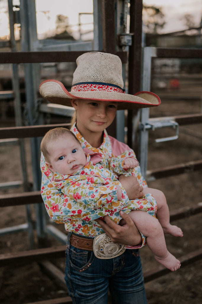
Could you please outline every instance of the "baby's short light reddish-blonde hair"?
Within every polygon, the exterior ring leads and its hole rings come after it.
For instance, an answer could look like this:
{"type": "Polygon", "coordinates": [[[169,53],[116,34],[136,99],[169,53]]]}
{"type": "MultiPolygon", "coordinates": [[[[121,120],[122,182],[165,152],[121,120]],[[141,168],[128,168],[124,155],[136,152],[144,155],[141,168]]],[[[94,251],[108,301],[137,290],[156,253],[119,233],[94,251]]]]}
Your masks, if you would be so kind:
{"type": "MultiPolygon", "coordinates": [[[[51,129],[49,130],[44,137],[41,140],[41,152],[44,155],[45,161],[49,161],[49,152],[48,152],[48,143],[53,142],[54,140],[65,136],[65,135],[71,135],[73,136],[78,142],[78,138],[75,136],[74,133],[72,133],[70,130],[66,129],[66,128],[55,128],[55,129],[51,129]]],[[[80,143],[80,142],[79,142],[80,143]]]]}

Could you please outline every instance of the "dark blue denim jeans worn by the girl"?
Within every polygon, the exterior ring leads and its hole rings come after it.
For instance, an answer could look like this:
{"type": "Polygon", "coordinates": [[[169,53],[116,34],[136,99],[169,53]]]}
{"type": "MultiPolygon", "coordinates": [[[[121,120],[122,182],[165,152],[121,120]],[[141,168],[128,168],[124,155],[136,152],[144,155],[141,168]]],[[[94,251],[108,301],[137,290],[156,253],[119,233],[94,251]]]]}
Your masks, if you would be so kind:
{"type": "Polygon", "coordinates": [[[68,240],[66,257],[65,281],[73,304],[107,304],[108,289],[114,304],[147,304],[137,249],[102,260],[68,240]]]}

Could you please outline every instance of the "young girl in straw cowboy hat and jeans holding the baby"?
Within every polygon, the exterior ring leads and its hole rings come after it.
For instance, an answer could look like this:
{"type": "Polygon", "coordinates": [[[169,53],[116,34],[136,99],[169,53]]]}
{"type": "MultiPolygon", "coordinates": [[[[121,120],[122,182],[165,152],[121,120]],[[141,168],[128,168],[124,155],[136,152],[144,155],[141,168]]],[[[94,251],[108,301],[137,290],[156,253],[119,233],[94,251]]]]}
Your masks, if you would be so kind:
{"type": "MultiPolygon", "coordinates": [[[[82,148],[101,150],[108,159],[112,154],[118,156],[122,153],[136,158],[133,150],[108,136],[105,130],[114,120],[117,109],[160,104],[160,99],[153,93],[124,94],[120,58],[101,52],[89,52],[78,57],[71,92],[59,81],[48,80],[41,84],[40,93],[50,102],[72,105],[76,110],[76,122],[71,131],[82,148]]],[[[77,202],[67,200],[62,192],[54,189],[45,168],[45,159],[41,155],[41,191],[46,194],[43,196],[46,209],[56,223],[65,223],[65,229],[70,232],[65,280],[73,303],[107,304],[108,288],[114,303],[147,303],[138,249],[126,249],[123,254],[110,259],[98,259],[93,252],[94,237],[103,233],[103,229],[113,242],[129,246],[139,244],[136,247],[141,248],[142,237],[132,219],[120,212],[126,222],[123,226],[108,216],[105,222],[91,220],[81,204],[78,209],[77,202]]],[[[147,187],[139,166],[134,168],[131,176],[121,175],[119,182],[124,187],[123,195],[129,199],[143,196],[143,187],[147,187]]],[[[153,200],[154,197],[146,194],[144,199],[153,200]]],[[[107,242],[102,246],[103,250],[108,250],[107,242]]]]}

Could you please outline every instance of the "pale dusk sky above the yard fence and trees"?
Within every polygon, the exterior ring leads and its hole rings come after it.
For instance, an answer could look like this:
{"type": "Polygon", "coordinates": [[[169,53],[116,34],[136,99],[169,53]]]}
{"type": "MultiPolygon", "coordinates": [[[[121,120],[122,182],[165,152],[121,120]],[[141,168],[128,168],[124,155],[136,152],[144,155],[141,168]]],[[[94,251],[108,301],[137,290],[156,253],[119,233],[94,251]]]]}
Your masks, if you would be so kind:
{"type": "MultiPolygon", "coordinates": [[[[16,5],[19,0],[13,0],[16,5]]],[[[68,16],[69,24],[71,24],[72,35],[75,39],[79,38],[78,34],[78,14],[79,13],[92,13],[93,0],[36,0],[37,11],[37,30],[38,38],[43,39],[55,31],[56,16],[59,14],[68,16]]],[[[165,26],[161,33],[170,33],[186,29],[186,25],[182,20],[185,14],[194,16],[196,26],[200,26],[202,16],[202,0],[143,0],[145,5],[154,5],[161,7],[164,13],[165,26]]],[[[8,13],[4,6],[7,5],[6,0],[0,1],[0,36],[7,36],[8,29],[8,13]]],[[[92,15],[82,15],[82,23],[90,23],[84,25],[83,30],[93,29],[92,15]]]]}

